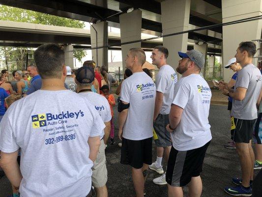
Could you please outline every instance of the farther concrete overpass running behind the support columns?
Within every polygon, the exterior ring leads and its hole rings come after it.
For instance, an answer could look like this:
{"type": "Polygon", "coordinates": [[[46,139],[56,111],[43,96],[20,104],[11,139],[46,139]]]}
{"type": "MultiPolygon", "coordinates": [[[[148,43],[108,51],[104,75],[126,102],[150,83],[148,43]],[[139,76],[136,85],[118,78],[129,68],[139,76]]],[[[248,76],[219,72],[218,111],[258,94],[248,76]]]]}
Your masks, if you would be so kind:
{"type": "MultiPolygon", "coordinates": [[[[212,31],[208,33],[211,34],[212,31]]],[[[87,29],[0,20],[0,34],[0,46],[37,47],[43,43],[55,42],[59,44],[72,44],[74,48],[91,48],[90,30],[87,29]]],[[[200,31],[199,34],[204,36],[203,31],[200,31]]],[[[141,38],[146,39],[153,36],[143,33],[141,38]]],[[[109,32],[108,44],[111,45],[109,49],[121,50],[120,46],[114,46],[120,44],[120,33],[109,32]]],[[[162,44],[162,38],[143,41],[141,43],[144,50],[152,50],[155,46],[162,44]]],[[[195,40],[188,39],[189,49],[192,49],[194,44],[195,40]]],[[[212,42],[209,45],[209,55],[221,55],[221,47],[219,45],[215,46],[212,42]]]]}

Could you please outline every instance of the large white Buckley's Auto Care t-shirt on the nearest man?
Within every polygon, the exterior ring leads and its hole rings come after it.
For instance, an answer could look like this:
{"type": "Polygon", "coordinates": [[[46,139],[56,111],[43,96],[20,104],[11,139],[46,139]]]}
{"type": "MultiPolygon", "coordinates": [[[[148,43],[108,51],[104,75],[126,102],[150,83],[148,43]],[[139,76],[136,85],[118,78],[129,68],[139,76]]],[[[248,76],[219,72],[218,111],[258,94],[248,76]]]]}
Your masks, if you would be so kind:
{"type": "Polygon", "coordinates": [[[38,90],[14,102],[0,123],[0,150],[21,147],[21,197],[85,197],[89,137],[105,128],[93,105],[69,91],[38,90]]]}

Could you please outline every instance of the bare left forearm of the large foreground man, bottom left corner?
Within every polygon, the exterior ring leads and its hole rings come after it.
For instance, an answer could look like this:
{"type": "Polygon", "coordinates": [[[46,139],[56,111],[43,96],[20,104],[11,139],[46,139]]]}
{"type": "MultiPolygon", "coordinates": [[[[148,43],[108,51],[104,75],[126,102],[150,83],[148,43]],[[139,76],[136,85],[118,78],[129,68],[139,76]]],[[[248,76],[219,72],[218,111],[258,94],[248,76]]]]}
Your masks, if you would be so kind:
{"type": "Polygon", "coordinates": [[[3,153],[1,152],[0,166],[6,174],[7,178],[11,184],[19,189],[22,174],[17,163],[18,150],[13,153],[3,153]]]}

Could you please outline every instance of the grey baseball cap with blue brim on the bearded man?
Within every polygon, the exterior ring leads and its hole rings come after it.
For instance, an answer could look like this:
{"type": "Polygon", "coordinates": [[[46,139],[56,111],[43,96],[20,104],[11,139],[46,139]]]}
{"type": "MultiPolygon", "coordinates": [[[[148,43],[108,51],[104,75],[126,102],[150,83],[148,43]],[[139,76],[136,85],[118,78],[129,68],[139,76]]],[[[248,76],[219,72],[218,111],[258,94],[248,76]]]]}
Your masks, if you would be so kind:
{"type": "Polygon", "coordinates": [[[178,52],[180,58],[189,58],[199,68],[204,67],[204,55],[197,50],[190,50],[186,53],[178,52]]]}

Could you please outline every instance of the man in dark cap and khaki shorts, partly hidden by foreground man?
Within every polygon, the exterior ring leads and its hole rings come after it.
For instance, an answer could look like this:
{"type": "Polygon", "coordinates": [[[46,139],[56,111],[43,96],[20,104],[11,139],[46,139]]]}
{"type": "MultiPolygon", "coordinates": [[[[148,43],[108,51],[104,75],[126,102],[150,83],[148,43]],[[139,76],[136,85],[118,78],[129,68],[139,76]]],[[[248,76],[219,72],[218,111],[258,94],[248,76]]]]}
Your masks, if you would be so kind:
{"type": "Polygon", "coordinates": [[[110,121],[112,116],[108,100],[102,95],[94,93],[91,90],[94,78],[94,69],[91,67],[83,66],[76,71],[75,81],[78,87],[78,93],[94,105],[94,108],[97,110],[106,125],[106,128],[104,129],[105,132],[101,133],[100,135],[101,144],[96,160],[94,161],[94,165],[92,167],[92,185],[95,188],[97,197],[107,197],[107,166],[105,144],[107,143],[110,134],[110,121]]]}

